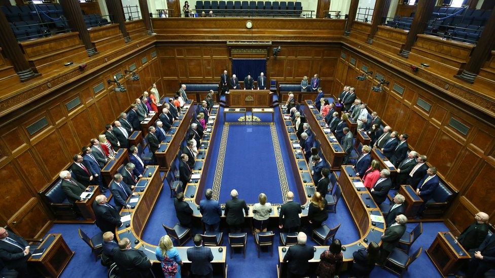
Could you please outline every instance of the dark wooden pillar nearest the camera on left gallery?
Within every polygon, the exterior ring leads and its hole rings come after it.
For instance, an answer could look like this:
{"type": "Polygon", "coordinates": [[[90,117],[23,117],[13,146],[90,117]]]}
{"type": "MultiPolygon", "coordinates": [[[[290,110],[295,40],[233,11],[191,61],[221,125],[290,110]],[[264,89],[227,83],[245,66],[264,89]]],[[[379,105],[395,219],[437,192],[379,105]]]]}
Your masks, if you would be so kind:
{"type": "Polygon", "coordinates": [[[21,47],[17,43],[17,38],[2,11],[0,11],[0,45],[2,46],[2,51],[5,53],[6,58],[9,59],[14,66],[14,71],[19,75],[21,82],[40,75],[39,73],[34,73],[29,66],[29,62],[22,53],[21,47]]]}

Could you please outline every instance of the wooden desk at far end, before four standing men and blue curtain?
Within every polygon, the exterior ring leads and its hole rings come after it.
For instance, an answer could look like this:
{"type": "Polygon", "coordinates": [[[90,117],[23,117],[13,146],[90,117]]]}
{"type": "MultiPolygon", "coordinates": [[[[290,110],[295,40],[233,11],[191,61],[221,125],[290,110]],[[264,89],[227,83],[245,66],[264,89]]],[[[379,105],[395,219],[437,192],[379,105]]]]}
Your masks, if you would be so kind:
{"type": "Polygon", "coordinates": [[[229,107],[269,107],[270,90],[230,90],[225,94],[229,107]]]}

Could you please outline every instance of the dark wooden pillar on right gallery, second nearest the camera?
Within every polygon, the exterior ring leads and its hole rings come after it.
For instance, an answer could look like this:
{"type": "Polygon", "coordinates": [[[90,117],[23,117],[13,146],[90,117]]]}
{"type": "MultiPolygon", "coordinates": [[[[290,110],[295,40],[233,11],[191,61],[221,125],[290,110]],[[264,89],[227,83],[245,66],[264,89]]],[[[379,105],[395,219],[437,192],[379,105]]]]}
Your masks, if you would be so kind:
{"type": "Polygon", "coordinates": [[[419,0],[417,3],[416,14],[414,15],[414,19],[412,20],[411,29],[407,33],[406,43],[404,47],[401,49],[399,55],[407,58],[409,57],[409,53],[411,52],[412,46],[416,41],[417,34],[421,34],[425,31],[425,28],[428,24],[428,20],[430,20],[433,8],[435,8],[435,1],[431,0],[419,0]]]}

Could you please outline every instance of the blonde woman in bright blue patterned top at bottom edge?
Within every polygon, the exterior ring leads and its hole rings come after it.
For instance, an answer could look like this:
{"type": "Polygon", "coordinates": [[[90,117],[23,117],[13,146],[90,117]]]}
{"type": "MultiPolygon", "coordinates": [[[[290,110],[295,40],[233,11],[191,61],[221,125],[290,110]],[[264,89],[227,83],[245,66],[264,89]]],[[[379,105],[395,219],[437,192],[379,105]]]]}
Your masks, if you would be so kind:
{"type": "Polygon", "coordinates": [[[155,256],[162,264],[165,278],[181,278],[182,260],[177,249],[173,247],[170,236],[161,237],[155,250],[155,256]]]}

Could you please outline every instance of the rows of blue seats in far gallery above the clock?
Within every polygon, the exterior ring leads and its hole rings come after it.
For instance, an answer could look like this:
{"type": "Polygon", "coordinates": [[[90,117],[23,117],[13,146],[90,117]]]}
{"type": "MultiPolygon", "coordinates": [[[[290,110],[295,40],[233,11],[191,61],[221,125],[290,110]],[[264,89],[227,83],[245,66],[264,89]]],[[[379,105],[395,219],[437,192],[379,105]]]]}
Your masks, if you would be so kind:
{"type": "Polygon", "coordinates": [[[300,15],[301,2],[270,1],[196,1],[196,12],[208,13],[213,10],[217,14],[288,14],[300,15]],[[217,11],[215,11],[217,10],[217,11]]]}

